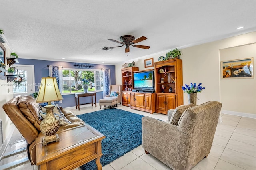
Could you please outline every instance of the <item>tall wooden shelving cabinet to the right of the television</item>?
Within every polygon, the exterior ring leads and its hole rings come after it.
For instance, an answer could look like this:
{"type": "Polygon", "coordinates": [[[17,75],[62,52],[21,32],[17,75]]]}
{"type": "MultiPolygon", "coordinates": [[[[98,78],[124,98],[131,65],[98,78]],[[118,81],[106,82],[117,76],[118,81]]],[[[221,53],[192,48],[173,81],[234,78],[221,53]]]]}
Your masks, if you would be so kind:
{"type": "Polygon", "coordinates": [[[154,63],[155,67],[155,91],[156,91],[156,113],[167,114],[169,109],[175,109],[183,105],[183,75],[182,60],[169,59],[154,63]],[[162,72],[165,70],[166,72],[162,72]],[[170,75],[168,80],[168,73],[170,75]],[[162,79],[162,80],[161,80],[162,79]],[[164,89],[162,89],[164,86],[164,89]],[[169,92],[169,88],[172,92],[169,92]]]}

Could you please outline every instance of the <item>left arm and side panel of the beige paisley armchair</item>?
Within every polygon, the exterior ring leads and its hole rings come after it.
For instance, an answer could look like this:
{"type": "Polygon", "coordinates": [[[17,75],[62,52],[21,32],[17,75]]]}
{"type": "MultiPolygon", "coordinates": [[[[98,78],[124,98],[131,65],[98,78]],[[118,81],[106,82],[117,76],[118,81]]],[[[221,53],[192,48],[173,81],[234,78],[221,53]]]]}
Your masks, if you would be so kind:
{"type": "Polygon", "coordinates": [[[176,125],[142,117],[142,148],[173,169],[184,169],[177,162],[186,162],[190,139],[191,136],[178,130],[176,125]]]}

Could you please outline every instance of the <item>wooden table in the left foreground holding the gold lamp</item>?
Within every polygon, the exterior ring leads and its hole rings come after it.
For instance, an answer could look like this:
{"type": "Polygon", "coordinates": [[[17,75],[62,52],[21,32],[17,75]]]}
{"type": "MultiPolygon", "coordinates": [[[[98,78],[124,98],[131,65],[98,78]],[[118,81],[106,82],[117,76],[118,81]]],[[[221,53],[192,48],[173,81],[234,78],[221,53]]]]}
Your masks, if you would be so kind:
{"type": "Polygon", "coordinates": [[[98,170],[100,164],[101,141],[105,138],[90,125],[81,125],[58,133],[59,142],[43,146],[42,138],[36,138],[36,165],[40,170],[74,169],[96,159],[98,170]]]}

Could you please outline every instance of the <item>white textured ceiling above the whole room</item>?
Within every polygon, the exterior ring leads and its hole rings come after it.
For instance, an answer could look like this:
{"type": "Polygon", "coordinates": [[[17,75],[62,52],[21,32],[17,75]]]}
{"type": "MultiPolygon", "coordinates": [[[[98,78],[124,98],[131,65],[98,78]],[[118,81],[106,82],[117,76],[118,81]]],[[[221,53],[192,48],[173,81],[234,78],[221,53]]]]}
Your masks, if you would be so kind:
{"type": "Polygon", "coordinates": [[[256,1],[0,0],[0,29],[20,58],[116,64],[255,31],[256,1]],[[150,49],[101,50],[123,35],[150,49]]]}

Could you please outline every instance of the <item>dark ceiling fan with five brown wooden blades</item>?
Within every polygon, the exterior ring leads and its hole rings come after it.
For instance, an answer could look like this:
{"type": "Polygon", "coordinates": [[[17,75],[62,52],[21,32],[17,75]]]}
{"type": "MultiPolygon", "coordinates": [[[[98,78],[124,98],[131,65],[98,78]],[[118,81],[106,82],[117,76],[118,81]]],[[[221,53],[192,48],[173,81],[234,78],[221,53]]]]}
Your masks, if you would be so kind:
{"type": "MultiPolygon", "coordinates": [[[[121,37],[120,37],[120,41],[121,41],[121,42],[116,41],[116,40],[113,40],[113,39],[108,39],[108,40],[110,40],[110,41],[112,41],[112,42],[117,42],[117,43],[122,44],[121,46],[116,46],[116,47],[122,47],[122,46],[125,45],[125,46],[126,46],[126,47],[125,47],[125,52],[128,53],[128,52],[130,51],[130,48],[129,48],[130,45],[132,45],[132,47],[136,47],[136,48],[149,49],[150,46],[134,45],[135,43],[141,42],[141,41],[146,40],[146,39],[147,39],[146,37],[142,36],[142,37],[137,38],[137,39],[135,40],[135,37],[134,37],[134,36],[125,35],[125,36],[121,36],[121,37]]],[[[113,48],[116,48],[116,47],[104,47],[104,48],[102,48],[102,49],[104,49],[104,50],[110,50],[110,49],[113,49],[113,48]]]]}

